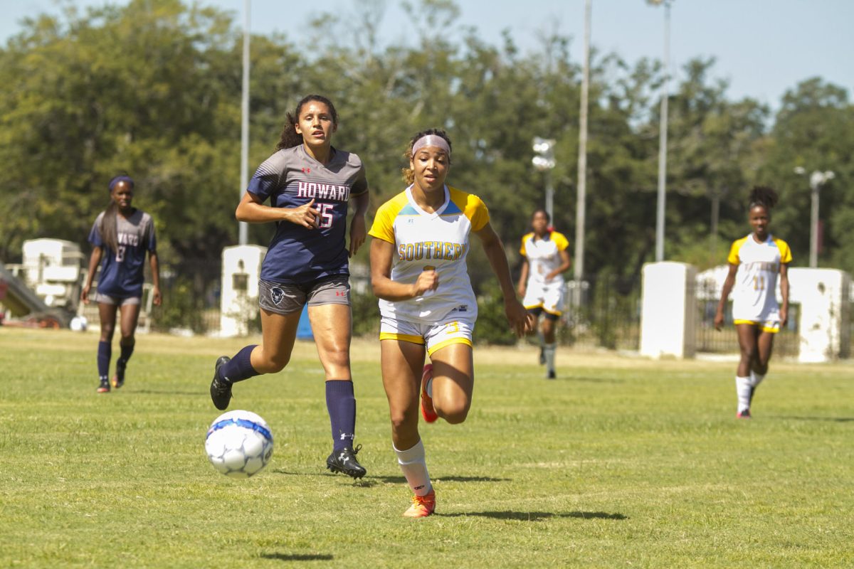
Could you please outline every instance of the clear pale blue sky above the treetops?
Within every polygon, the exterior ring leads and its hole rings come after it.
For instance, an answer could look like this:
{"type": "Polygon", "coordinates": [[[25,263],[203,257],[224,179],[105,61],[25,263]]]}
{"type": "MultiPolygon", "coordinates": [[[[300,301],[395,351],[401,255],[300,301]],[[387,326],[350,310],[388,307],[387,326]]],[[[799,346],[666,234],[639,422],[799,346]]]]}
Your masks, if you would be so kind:
{"type": "MultiPolygon", "coordinates": [[[[66,0],[67,1],[67,0],[66,0]]],[[[417,3],[418,0],[412,0],[417,3]]],[[[107,0],[73,0],[79,7],[107,0]]],[[[126,3],[118,0],[112,3],[126,3]]],[[[243,22],[243,0],[202,0],[231,10],[243,22]]],[[[254,33],[282,32],[298,45],[307,41],[307,21],[322,11],[352,15],[358,0],[253,0],[254,33]]],[[[508,29],[523,49],[536,49],[538,38],[559,32],[573,38],[572,56],[582,58],[583,0],[457,0],[459,23],[474,26],[489,44],[500,44],[508,29]]],[[[380,30],[389,43],[407,41],[410,22],[400,0],[385,0],[380,30]]],[[[0,41],[20,30],[20,19],[56,14],[56,0],[0,0],[0,41]]],[[[670,23],[670,59],[681,64],[698,56],[717,58],[714,73],[730,82],[728,96],[751,96],[771,107],[798,81],[819,76],[848,90],[854,98],[854,0],[674,0],[670,23]],[[848,61],[848,63],[845,63],[848,61]]],[[[664,52],[664,13],[645,0],[593,0],[591,42],[628,61],[664,52]]]]}

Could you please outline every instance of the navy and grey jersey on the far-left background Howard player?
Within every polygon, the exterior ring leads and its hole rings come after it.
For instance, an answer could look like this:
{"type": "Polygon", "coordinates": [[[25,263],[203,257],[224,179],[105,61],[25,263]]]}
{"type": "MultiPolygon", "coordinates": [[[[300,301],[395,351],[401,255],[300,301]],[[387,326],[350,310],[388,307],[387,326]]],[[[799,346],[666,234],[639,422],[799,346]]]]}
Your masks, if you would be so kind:
{"type": "Polygon", "coordinates": [[[89,242],[103,250],[98,293],[118,299],[142,296],[145,253],[157,251],[154,220],[148,213],[138,209],[129,218],[123,218],[116,213],[115,228],[119,250],[113,251],[101,235],[104,213],[98,214],[89,233],[89,242]]]}

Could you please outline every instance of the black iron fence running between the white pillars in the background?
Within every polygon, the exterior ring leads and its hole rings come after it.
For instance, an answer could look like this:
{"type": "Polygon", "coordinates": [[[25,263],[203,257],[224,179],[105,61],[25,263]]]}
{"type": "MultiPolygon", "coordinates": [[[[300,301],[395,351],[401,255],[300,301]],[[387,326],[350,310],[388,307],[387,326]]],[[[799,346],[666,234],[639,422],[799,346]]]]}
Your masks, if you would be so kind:
{"type": "MultiPolygon", "coordinates": [[[[354,334],[376,337],[379,328],[377,299],[371,294],[366,270],[354,268],[352,280],[354,334]]],[[[165,265],[161,269],[164,303],[153,307],[150,329],[161,332],[185,331],[215,334],[219,330],[221,264],[190,261],[165,265]]],[[[147,279],[149,282],[149,279],[147,279]]],[[[710,283],[699,283],[694,297],[697,303],[695,345],[699,352],[737,353],[738,338],[732,323],[732,303],[725,311],[721,331],[714,327],[719,290],[710,283]]],[[[512,344],[516,340],[506,329],[503,305],[497,285],[481,291],[476,342],[512,344]]],[[[567,282],[566,310],[559,320],[561,345],[582,348],[636,351],[640,348],[640,278],[594,276],[583,282],[567,282]]],[[[775,355],[798,355],[799,305],[790,305],[787,326],[775,337],[775,355]]],[[[854,323],[846,341],[854,341],[854,323]]],[[[250,329],[257,330],[258,322],[250,329]]]]}

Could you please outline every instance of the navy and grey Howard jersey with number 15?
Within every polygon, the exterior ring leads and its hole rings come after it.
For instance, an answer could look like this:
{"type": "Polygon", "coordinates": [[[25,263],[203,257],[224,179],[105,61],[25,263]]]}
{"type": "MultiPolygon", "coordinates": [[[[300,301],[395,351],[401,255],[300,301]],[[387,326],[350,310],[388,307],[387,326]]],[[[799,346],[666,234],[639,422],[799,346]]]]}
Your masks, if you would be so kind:
{"type": "Polygon", "coordinates": [[[272,207],[294,208],[314,200],[318,227],[290,221],[276,224],[260,277],[282,284],[306,284],[326,276],[349,275],[347,206],[351,195],[367,191],[365,166],[356,154],[336,150],[320,164],[302,146],[284,148],[258,166],[249,193],[272,207]]]}

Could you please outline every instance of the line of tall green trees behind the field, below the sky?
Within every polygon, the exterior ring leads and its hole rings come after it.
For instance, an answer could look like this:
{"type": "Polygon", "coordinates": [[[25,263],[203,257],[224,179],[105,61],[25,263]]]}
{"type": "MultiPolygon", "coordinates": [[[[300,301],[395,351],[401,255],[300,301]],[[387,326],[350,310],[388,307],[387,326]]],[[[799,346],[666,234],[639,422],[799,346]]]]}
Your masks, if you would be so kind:
{"type": "MultiPolygon", "coordinates": [[[[372,216],[404,188],[410,136],[445,128],[450,183],[483,197],[513,261],[544,200],[531,142],[554,138],[553,224],[572,241],[582,75],[572,38],[547,34],[523,54],[509,32],[492,45],[459,26],[451,0],[407,9],[418,38],[411,46],[380,43],[377,2],[352,18],[319,17],[310,48],[278,34],[252,37],[250,169],[272,154],[295,102],[323,94],[341,117],[335,146],[366,163],[372,216]]],[[[167,264],[218,260],[236,244],[242,42],[235,15],[179,0],[26,20],[0,49],[0,259],[17,260],[21,242],[35,237],[85,246],[120,172],[136,180],[136,204],[154,216],[167,264]]],[[[663,78],[658,61],[593,51],[588,275],[633,278],[653,259],[663,78]]],[[[696,58],[671,88],[665,258],[725,262],[729,242],[749,231],[746,195],[763,184],[781,196],[772,231],[791,244],[795,265],[807,264],[810,189],[793,173],[804,166],[836,174],[821,190],[820,266],[854,271],[846,90],[805,78],[772,113],[751,98],[732,100],[727,87],[713,58],[696,58]]],[[[250,242],[266,245],[272,230],[251,226],[250,242]]],[[[357,261],[366,262],[366,249],[357,261]]],[[[486,261],[472,252],[477,286],[488,271],[477,270],[486,261]]]]}

